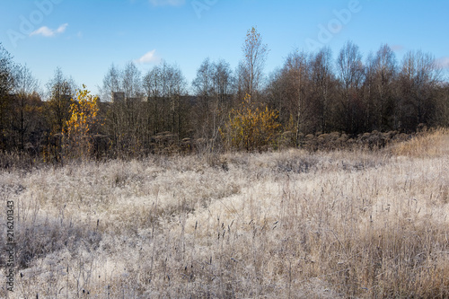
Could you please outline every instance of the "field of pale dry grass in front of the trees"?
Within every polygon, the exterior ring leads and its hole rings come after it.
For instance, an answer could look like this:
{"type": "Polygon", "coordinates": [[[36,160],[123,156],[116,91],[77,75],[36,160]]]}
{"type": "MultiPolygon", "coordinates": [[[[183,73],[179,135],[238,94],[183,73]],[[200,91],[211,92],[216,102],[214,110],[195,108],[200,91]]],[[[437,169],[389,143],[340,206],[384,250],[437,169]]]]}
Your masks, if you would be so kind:
{"type": "Polygon", "coordinates": [[[375,151],[10,168],[0,188],[16,217],[0,297],[449,297],[445,130],[375,151]]]}

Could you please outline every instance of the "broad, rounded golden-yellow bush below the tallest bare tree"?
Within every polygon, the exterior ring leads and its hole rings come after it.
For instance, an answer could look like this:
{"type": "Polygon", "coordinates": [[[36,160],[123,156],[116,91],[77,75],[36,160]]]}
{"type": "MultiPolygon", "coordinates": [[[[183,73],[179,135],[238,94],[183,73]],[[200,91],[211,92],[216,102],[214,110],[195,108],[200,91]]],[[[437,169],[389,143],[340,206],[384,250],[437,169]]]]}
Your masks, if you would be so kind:
{"type": "Polygon", "coordinates": [[[247,94],[238,110],[231,110],[225,128],[220,134],[225,144],[235,149],[247,151],[261,150],[276,143],[280,124],[277,122],[276,110],[260,108],[251,103],[247,94]]]}

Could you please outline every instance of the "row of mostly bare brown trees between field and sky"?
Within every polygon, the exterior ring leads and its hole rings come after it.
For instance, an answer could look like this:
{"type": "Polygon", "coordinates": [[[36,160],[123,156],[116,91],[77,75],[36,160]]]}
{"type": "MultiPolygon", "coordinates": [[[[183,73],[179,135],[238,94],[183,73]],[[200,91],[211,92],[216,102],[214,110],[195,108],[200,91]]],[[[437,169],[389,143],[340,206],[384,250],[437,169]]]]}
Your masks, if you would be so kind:
{"type": "Polygon", "coordinates": [[[0,44],[0,151],[58,163],[70,152],[70,138],[89,145],[84,158],[138,157],[276,148],[286,136],[289,145],[301,146],[308,134],[449,125],[449,84],[432,54],[409,51],[398,62],[382,45],[364,58],[348,41],[336,57],[329,47],[295,50],[266,76],[268,54],[251,28],[235,69],[206,58],[191,83],[165,61],[145,74],[133,62],[111,65],[97,101],[59,68],[40,92],[31,70],[0,44]],[[80,114],[82,104],[89,112],[80,114]],[[86,113],[92,123],[81,124],[86,113]]]}

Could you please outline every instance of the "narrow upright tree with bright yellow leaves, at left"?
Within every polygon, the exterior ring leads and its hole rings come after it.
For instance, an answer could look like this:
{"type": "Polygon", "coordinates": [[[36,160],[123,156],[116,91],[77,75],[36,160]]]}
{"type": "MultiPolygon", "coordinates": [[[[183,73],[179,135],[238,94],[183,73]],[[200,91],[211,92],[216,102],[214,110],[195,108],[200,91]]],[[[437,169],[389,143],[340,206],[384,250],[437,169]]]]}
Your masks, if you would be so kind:
{"type": "Polygon", "coordinates": [[[76,92],[76,100],[70,104],[71,117],[66,121],[63,135],[66,140],[66,156],[88,159],[92,154],[92,128],[97,121],[98,97],[93,96],[83,84],[76,92]]]}

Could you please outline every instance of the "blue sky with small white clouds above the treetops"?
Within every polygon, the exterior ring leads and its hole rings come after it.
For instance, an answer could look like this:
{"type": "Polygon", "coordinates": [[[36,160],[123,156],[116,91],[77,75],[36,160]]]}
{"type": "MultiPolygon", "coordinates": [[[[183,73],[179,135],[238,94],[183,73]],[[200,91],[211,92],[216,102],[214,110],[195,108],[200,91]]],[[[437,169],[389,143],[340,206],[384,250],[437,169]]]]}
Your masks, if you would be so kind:
{"type": "Polygon", "coordinates": [[[267,75],[296,48],[335,58],[347,40],[364,57],[387,43],[398,62],[420,49],[449,69],[447,0],[0,0],[0,13],[0,42],[42,91],[57,66],[98,92],[112,63],[145,73],[161,59],[191,83],[206,57],[234,69],[252,26],[270,49],[267,75]]]}

